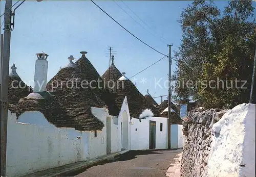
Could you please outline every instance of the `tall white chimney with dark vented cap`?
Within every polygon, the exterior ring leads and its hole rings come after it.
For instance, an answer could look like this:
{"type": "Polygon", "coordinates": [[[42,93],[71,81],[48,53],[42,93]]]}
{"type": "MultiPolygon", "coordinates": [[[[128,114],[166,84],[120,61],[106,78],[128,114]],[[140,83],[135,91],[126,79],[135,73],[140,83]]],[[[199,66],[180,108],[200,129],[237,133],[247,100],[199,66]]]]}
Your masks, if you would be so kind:
{"type": "Polygon", "coordinates": [[[35,61],[35,77],[34,77],[34,92],[46,91],[48,55],[44,53],[36,54],[35,61]]]}

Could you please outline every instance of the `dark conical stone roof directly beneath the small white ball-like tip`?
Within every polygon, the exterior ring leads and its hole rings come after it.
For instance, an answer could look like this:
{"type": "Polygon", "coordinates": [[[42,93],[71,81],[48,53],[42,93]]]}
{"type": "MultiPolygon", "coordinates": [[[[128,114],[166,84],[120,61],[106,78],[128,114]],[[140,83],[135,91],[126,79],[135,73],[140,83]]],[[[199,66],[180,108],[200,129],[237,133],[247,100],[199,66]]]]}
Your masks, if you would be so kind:
{"type": "MultiPolygon", "coordinates": [[[[127,104],[131,117],[139,118],[139,115],[145,110],[150,109],[154,116],[158,115],[153,105],[147,103],[145,97],[139,92],[136,86],[130,80],[118,81],[117,94],[127,97],[127,104]]],[[[119,102],[123,99],[119,98],[119,102]]],[[[121,103],[120,103],[121,104],[121,103]]]]}

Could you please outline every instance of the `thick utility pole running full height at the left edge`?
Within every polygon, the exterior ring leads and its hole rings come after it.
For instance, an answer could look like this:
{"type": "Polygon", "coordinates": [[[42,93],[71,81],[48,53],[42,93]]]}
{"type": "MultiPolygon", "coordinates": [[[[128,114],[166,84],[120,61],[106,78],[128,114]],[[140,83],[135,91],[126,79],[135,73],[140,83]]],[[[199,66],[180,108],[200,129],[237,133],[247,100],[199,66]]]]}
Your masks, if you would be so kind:
{"type": "Polygon", "coordinates": [[[10,61],[11,42],[11,8],[12,0],[5,2],[5,26],[2,61],[1,84],[1,176],[6,176],[6,144],[7,144],[7,119],[8,119],[8,74],[10,61]]]}

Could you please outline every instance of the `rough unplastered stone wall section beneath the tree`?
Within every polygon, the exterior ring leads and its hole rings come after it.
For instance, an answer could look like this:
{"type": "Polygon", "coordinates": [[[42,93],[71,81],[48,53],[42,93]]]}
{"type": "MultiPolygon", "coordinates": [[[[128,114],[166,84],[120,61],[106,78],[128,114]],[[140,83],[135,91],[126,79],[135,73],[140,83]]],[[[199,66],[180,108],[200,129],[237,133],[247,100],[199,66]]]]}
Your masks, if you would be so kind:
{"type": "Polygon", "coordinates": [[[183,122],[185,143],[181,160],[181,176],[202,176],[207,166],[210,151],[211,128],[228,110],[196,109],[190,111],[183,122]]]}

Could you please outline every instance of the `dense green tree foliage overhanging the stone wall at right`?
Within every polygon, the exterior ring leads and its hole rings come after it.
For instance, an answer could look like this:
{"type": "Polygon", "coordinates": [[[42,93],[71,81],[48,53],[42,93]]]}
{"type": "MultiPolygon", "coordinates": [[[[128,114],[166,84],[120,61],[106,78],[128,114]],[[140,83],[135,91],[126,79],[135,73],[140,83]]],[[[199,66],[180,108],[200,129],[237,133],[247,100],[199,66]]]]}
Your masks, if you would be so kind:
{"type": "Polygon", "coordinates": [[[176,82],[176,102],[194,99],[206,108],[249,102],[256,46],[253,13],[249,0],[230,1],[223,12],[214,2],[199,0],[182,12],[182,43],[172,79],[193,84],[181,87],[176,82]]]}

